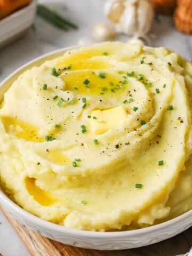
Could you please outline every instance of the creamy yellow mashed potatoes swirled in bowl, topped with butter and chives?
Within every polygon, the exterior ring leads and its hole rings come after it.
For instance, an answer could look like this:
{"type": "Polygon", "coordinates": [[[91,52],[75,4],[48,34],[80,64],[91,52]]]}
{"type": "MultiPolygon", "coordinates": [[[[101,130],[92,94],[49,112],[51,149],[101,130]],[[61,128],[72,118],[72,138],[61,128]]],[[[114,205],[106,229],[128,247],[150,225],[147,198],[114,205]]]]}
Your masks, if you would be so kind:
{"type": "Polygon", "coordinates": [[[191,74],[170,50],[118,42],[25,71],[0,110],[7,194],[85,230],[146,227],[188,211],[191,74]]]}

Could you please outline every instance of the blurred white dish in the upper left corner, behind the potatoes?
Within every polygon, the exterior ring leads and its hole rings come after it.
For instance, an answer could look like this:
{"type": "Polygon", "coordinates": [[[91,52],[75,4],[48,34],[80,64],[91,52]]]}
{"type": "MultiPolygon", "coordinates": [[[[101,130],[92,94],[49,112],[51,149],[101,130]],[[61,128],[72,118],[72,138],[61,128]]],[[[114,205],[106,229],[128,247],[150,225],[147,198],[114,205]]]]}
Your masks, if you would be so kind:
{"type": "Polygon", "coordinates": [[[0,20],[0,47],[24,34],[34,21],[37,0],[0,20]]]}

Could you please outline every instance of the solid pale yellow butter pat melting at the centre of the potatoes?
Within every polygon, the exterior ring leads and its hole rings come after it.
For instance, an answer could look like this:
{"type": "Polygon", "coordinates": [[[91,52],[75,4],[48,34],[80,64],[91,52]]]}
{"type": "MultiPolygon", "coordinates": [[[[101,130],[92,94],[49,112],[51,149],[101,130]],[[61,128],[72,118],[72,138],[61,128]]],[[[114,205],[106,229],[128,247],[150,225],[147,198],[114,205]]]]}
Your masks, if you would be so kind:
{"type": "Polygon", "coordinates": [[[124,105],[107,110],[93,110],[90,125],[95,135],[107,132],[126,122],[127,113],[124,105]],[[96,117],[97,119],[93,119],[96,117]]]}

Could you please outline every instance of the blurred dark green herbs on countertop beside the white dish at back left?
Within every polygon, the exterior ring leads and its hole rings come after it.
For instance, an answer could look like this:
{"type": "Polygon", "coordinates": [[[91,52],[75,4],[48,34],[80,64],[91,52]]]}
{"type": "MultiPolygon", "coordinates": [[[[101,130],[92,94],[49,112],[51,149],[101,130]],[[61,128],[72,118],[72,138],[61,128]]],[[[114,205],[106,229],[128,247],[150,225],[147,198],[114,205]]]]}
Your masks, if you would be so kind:
{"type": "Polygon", "coordinates": [[[69,28],[78,28],[74,23],[62,18],[57,12],[50,10],[42,4],[37,5],[37,14],[47,22],[51,23],[53,26],[65,31],[67,31],[69,28]]]}

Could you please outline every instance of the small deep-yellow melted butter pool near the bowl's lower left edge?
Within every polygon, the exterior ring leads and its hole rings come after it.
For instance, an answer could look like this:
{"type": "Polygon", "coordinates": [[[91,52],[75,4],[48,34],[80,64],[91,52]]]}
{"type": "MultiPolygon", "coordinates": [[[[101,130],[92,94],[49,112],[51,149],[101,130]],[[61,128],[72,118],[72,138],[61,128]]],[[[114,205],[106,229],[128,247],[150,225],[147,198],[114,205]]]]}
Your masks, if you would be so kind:
{"type": "Polygon", "coordinates": [[[35,178],[26,177],[25,183],[28,193],[34,197],[35,201],[43,206],[49,206],[54,203],[54,200],[51,197],[51,194],[45,189],[39,187],[36,184],[35,178]]]}

